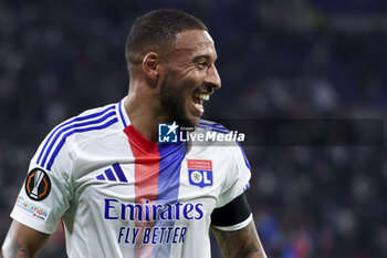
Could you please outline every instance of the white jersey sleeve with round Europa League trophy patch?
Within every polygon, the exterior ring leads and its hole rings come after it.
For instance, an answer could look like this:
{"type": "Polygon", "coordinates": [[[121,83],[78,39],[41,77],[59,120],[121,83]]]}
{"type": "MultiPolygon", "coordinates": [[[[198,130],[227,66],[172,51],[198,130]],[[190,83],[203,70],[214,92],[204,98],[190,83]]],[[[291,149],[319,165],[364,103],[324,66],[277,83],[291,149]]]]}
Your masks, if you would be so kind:
{"type": "Polygon", "coordinates": [[[54,137],[43,141],[30,162],[29,173],[20,189],[11,217],[38,231],[52,234],[70,206],[72,159],[64,143],[51,145],[54,137]],[[54,162],[53,162],[54,161],[54,162]]]}

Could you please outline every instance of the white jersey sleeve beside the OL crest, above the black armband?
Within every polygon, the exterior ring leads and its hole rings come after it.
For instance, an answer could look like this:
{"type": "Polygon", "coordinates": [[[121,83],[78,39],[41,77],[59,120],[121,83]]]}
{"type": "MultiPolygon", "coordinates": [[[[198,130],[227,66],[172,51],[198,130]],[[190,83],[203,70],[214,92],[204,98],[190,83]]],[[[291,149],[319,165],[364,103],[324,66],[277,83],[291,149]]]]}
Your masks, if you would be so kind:
{"type": "Polygon", "coordinates": [[[227,161],[227,178],[217,208],[227,205],[250,187],[251,167],[242,147],[236,142],[234,146],[229,146],[229,151],[231,157],[227,161]]]}

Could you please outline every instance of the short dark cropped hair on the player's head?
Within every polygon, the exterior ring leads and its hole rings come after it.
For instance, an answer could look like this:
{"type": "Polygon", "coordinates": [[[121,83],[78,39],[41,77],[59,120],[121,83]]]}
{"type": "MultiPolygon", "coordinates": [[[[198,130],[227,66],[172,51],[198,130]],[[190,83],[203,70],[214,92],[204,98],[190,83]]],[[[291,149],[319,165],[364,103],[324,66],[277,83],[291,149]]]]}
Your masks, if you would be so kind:
{"type": "Polygon", "coordinates": [[[187,30],[208,31],[202,21],[182,11],[159,9],[145,13],[136,19],[127,35],[126,61],[138,63],[139,54],[169,49],[176,34],[187,30]]]}

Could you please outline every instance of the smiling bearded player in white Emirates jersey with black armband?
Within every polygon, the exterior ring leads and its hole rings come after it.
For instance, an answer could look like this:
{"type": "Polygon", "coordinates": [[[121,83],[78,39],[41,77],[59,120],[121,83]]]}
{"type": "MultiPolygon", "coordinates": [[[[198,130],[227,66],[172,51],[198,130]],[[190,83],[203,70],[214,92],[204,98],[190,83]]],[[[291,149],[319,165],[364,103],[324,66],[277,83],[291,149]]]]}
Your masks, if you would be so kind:
{"type": "Polygon", "coordinates": [[[265,257],[244,197],[250,165],[237,142],[158,144],[158,124],[200,120],[220,89],[206,25],[180,11],[138,18],[126,42],[129,93],[56,126],[42,142],[0,257],[35,257],[61,219],[69,257],[265,257]]]}

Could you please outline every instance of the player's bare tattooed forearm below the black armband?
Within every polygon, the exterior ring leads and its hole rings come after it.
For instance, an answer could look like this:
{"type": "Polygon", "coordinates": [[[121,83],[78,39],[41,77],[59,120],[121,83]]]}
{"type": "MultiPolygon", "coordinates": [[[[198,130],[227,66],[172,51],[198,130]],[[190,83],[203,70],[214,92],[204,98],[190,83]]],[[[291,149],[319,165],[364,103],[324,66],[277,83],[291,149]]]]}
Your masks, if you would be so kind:
{"type": "Polygon", "coordinates": [[[253,220],[234,231],[211,229],[226,258],[266,258],[253,220]]]}

